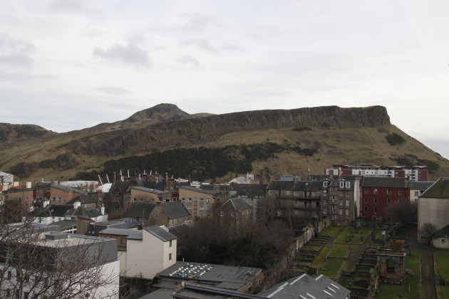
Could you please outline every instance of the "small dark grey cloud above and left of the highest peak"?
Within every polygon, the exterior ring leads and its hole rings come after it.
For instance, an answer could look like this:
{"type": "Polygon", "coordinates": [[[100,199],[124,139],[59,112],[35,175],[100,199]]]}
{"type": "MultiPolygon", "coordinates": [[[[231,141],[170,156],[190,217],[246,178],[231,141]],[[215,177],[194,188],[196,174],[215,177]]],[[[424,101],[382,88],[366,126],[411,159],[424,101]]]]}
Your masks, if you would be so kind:
{"type": "Polygon", "coordinates": [[[134,44],[123,46],[119,43],[115,43],[106,50],[96,48],[93,51],[93,56],[103,58],[108,61],[119,61],[125,64],[143,66],[145,68],[150,67],[150,57],[148,56],[148,51],[145,51],[134,44]]]}

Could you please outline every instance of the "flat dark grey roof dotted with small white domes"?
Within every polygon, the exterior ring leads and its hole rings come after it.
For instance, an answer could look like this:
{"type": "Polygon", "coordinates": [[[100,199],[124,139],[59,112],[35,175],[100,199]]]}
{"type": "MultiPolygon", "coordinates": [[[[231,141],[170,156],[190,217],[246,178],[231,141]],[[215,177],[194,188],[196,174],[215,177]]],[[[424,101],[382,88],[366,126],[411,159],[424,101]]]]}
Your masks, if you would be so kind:
{"type": "Polygon", "coordinates": [[[254,279],[254,273],[261,272],[261,268],[242,266],[222,266],[203,263],[187,263],[178,261],[174,265],[160,272],[160,277],[173,280],[200,280],[207,285],[225,283],[227,288],[238,290],[254,279]],[[197,273],[195,273],[195,271],[197,273]],[[193,278],[190,278],[192,277],[193,278]]]}

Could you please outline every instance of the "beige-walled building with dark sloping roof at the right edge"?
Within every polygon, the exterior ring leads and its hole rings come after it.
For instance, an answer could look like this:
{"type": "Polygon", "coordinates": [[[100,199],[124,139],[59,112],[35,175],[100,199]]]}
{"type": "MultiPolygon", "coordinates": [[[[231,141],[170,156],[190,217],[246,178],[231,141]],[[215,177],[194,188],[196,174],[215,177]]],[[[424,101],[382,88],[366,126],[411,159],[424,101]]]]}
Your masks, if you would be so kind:
{"type": "Polygon", "coordinates": [[[418,197],[418,242],[429,240],[420,231],[424,224],[433,224],[436,231],[449,225],[449,177],[441,177],[418,197]]]}

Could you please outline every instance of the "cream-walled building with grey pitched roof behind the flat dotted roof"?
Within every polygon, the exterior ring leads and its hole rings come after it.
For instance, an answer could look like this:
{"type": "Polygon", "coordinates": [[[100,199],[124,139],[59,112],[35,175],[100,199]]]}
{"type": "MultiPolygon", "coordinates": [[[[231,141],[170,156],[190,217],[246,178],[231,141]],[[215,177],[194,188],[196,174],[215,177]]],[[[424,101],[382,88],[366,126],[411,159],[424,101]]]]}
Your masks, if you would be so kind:
{"type": "Polygon", "coordinates": [[[99,236],[117,240],[121,276],[153,279],[176,263],[177,237],[165,226],[149,226],[141,231],[105,229],[99,236]]]}

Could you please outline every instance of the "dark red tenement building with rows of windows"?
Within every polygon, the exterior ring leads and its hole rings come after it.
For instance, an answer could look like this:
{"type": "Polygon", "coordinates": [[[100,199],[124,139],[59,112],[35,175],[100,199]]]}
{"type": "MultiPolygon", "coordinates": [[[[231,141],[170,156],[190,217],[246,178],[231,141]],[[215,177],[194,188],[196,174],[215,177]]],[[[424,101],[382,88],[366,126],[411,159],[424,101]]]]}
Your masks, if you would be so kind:
{"type": "Polygon", "coordinates": [[[400,177],[363,177],[361,216],[366,221],[397,222],[388,214],[388,208],[410,201],[408,179],[400,177]]]}

